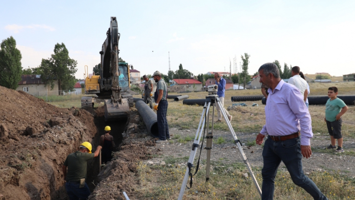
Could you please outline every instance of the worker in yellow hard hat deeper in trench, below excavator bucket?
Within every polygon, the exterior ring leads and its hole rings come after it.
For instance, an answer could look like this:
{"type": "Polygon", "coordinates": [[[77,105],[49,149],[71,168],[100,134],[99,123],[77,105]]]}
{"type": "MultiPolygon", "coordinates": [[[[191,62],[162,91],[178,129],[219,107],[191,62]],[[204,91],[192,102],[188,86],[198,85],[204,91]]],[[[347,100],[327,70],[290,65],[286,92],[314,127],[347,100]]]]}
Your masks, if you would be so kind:
{"type": "Polygon", "coordinates": [[[113,136],[110,135],[111,127],[105,127],[105,134],[100,137],[100,145],[102,146],[101,163],[106,163],[112,159],[112,150],[115,148],[113,136]]]}

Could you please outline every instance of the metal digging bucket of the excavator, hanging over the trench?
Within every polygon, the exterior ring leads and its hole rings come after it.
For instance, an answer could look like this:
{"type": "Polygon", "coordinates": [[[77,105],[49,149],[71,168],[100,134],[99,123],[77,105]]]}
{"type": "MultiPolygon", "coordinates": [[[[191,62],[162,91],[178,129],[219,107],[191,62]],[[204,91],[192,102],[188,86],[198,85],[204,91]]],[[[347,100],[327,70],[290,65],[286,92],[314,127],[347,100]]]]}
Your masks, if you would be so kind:
{"type": "Polygon", "coordinates": [[[118,119],[127,119],[129,113],[129,104],[127,99],[121,99],[121,102],[111,102],[111,99],[105,100],[105,121],[118,119]]]}

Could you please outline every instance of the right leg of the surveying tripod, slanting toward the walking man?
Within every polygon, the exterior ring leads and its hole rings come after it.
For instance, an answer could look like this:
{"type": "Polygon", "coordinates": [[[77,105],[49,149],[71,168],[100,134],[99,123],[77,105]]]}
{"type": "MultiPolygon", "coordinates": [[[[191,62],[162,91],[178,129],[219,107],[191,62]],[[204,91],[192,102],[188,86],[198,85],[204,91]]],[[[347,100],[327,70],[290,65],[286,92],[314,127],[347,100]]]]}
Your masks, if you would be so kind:
{"type": "Polygon", "coordinates": [[[255,187],[256,189],[258,190],[259,194],[260,194],[260,197],[261,197],[261,189],[260,189],[260,186],[258,184],[258,182],[256,181],[256,178],[255,178],[255,175],[253,173],[253,171],[251,170],[251,166],[248,162],[248,159],[247,159],[247,156],[245,155],[244,151],[243,151],[243,148],[242,148],[242,145],[240,144],[240,141],[238,140],[235,132],[234,132],[234,129],[233,127],[231,126],[231,122],[229,121],[228,117],[227,117],[227,114],[226,114],[226,111],[224,110],[223,107],[221,107],[221,103],[220,103],[220,100],[219,98],[217,97],[216,98],[216,104],[218,104],[219,108],[221,109],[221,113],[223,115],[223,118],[224,120],[226,120],[226,123],[227,123],[227,126],[232,134],[232,137],[233,137],[233,140],[235,142],[235,144],[237,145],[238,149],[239,149],[239,152],[240,154],[242,155],[242,158],[243,158],[243,162],[244,164],[247,165],[247,168],[248,168],[248,171],[249,171],[249,174],[251,176],[251,179],[253,180],[254,184],[255,184],[255,187]]]}

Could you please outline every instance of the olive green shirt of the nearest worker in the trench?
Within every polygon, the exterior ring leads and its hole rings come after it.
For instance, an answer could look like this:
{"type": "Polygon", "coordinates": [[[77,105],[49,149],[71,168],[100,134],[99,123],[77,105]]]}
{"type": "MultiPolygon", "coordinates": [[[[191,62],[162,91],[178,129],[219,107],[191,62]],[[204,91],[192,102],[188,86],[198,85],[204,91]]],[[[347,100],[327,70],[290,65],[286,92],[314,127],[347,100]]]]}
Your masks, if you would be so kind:
{"type": "Polygon", "coordinates": [[[80,181],[80,179],[86,179],[88,160],[93,159],[95,155],[93,153],[83,153],[81,151],[75,151],[67,156],[64,165],[67,169],[66,181],[80,181]]]}

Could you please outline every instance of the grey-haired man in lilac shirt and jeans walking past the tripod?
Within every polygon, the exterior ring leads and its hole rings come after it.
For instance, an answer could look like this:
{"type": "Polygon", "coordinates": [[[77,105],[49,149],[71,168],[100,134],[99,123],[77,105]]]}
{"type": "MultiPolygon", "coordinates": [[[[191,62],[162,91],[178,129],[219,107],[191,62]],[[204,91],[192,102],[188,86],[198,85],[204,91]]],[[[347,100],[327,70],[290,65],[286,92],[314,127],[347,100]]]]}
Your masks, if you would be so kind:
{"type": "Polygon", "coordinates": [[[313,137],[311,115],[303,102],[302,93],[280,78],[280,71],[273,63],[262,65],[259,74],[260,82],[269,88],[265,106],[266,125],[256,137],[256,143],[261,145],[268,135],[263,149],[261,199],[273,199],[276,172],[282,161],[296,185],[315,200],[328,200],[302,170],[302,155],[307,159],[311,156],[310,139],[313,137]]]}

